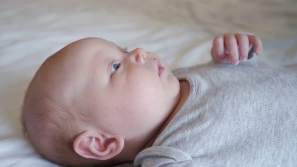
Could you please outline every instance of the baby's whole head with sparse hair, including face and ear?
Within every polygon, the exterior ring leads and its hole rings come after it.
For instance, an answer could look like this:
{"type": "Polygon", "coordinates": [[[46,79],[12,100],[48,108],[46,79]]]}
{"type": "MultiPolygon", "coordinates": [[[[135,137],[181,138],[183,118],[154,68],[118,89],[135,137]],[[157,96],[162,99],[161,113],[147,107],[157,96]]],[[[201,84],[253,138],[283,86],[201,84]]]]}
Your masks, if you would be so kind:
{"type": "Polygon", "coordinates": [[[86,38],[41,65],[26,92],[22,122],[35,149],[56,163],[132,161],[176,106],[179,89],[155,54],[86,38]]]}

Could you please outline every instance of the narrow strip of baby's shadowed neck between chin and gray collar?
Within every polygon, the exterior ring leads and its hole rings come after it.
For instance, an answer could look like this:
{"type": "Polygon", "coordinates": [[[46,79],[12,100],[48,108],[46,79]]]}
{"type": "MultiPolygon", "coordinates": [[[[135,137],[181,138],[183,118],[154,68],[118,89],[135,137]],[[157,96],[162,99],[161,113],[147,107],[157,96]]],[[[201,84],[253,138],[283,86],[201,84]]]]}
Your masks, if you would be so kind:
{"type": "Polygon", "coordinates": [[[167,120],[164,122],[158,133],[154,136],[154,139],[151,141],[151,144],[154,143],[155,139],[161,134],[161,132],[166,128],[166,126],[170,123],[170,121],[174,118],[174,116],[179,112],[181,107],[184,105],[190,93],[190,84],[187,80],[181,80],[180,83],[180,100],[177,103],[174,110],[171,112],[167,120]]]}

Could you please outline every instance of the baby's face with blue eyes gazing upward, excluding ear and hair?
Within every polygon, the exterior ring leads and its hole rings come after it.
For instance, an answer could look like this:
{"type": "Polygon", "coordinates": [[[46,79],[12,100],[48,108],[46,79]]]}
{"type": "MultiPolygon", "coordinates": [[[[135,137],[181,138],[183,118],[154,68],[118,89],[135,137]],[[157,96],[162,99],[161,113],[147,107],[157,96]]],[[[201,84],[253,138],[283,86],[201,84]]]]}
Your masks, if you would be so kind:
{"type": "Polygon", "coordinates": [[[75,77],[80,94],[76,103],[102,130],[124,138],[154,134],[179,100],[179,81],[153,53],[125,52],[99,38],[64,49],[73,68],[68,76],[75,77]]]}

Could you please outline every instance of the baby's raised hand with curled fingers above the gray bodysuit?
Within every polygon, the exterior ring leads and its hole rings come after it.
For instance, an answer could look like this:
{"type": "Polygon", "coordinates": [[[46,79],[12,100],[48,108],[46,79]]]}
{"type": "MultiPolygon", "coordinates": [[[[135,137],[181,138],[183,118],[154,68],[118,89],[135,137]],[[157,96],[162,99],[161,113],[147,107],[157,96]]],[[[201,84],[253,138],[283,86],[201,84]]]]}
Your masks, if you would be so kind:
{"type": "Polygon", "coordinates": [[[214,38],[211,55],[216,62],[231,62],[237,65],[246,61],[254,45],[256,54],[262,52],[262,41],[258,36],[247,34],[225,34],[214,38]]]}

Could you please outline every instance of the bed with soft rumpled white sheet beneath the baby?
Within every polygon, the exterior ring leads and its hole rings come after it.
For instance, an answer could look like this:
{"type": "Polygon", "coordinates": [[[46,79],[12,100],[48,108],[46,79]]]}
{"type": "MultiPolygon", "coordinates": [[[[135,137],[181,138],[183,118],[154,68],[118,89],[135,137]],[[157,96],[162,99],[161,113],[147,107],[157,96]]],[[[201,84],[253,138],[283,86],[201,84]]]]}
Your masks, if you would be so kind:
{"type": "Polygon", "coordinates": [[[142,47],[176,69],[208,62],[215,36],[249,32],[264,43],[259,66],[297,72],[295,0],[7,0],[0,22],[0,166],[58,166],[24,138],[20,108],[41,63],[84,37],[142,47]]]}

